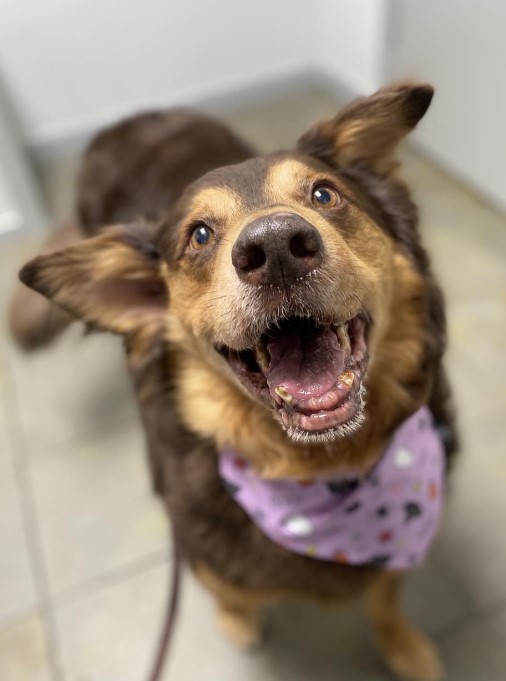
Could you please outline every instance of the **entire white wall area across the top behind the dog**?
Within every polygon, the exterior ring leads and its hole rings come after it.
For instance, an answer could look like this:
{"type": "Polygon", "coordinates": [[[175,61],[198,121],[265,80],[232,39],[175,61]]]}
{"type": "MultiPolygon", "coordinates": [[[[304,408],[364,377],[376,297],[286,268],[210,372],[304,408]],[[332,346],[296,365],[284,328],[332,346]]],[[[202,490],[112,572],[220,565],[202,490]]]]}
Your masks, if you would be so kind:
{"type": "Polygon", "coordinates": [[[311,71],[336,94],[418,77],[419,142],[504,206],[505,27],[504,0],[0,0],[0,69],[35,146],[311,71]]]}

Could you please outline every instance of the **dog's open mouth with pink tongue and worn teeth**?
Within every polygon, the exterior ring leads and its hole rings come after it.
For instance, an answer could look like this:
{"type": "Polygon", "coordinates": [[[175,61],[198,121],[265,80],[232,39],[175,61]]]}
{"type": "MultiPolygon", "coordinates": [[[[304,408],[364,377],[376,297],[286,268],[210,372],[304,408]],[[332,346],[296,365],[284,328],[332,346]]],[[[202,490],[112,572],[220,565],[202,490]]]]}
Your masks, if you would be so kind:
{"type": "Polygon", "coordinates": [[[291,317],[254,348],[219,352],[253,397],[271,405],[296,440],[329,440],[363,419],[368,324],[364,315],[339,324],[291,317]]]}

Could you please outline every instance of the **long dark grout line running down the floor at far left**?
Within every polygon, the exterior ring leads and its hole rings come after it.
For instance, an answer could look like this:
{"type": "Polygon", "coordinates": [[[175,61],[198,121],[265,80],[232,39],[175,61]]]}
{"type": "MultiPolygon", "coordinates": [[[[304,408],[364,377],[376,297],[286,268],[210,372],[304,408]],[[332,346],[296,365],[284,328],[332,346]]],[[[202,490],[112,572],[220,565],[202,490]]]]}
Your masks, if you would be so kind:
{"type": "Polygon", "coordinates": [[[53,681],[65,681],[61,648],[51,610],[49,579],[44,562],[42,538],[37,522],[29,460],[19,418],[18,396],[10,367],[7,367],[6,373],[11,393],[11,399],[7,406],[8,438],[13,450],[12,466],[23,519],[31,573],[36,591],[36,605],[44,628],[44,647],[47,655],[47,664],[53,681]]]}

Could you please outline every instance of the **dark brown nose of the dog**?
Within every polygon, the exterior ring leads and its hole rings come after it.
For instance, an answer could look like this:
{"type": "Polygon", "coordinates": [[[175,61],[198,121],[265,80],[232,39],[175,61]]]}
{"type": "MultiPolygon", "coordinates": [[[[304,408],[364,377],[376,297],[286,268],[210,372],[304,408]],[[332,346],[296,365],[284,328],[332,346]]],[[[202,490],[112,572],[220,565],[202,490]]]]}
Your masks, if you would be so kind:
{"type": "Polygon", "coordinates": [[[256,286],[285,286],[321,265],[318,230],[295,213],[256,218],[239,234],[232,263],[240,279],[256,286]]]}

